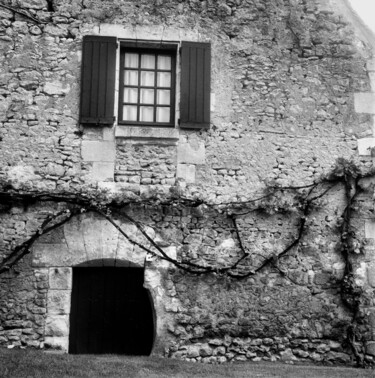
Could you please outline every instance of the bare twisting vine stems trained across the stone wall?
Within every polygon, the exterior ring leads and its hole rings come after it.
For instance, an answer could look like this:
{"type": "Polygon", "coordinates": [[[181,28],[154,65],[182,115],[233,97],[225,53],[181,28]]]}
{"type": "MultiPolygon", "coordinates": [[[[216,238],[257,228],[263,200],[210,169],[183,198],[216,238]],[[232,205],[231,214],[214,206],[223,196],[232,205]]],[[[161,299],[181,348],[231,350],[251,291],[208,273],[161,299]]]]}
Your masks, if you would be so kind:
{"type": "MultiPolygon", "coordinates": [[[[19,262],[25,255],[30,253],[30,248],[34,244],[34,242],[40,237],[57,227],[62,226],[64,223],[68,222],[74,216],[77,216],[81,212],[84,211],[92,211],[96,212],[100,216],[104,217],[108,222],[110,222],[120,233],[123,235],[130,243],[135,246],[138,246],[143,251],[151,254],[152,256],[161,258],[163,260],[168,261],[169,263],[173,264],[175,267],[182,269],[190,274],[194,275],[202,275],[208,273],[217,273],[217,274],[226,274],[228,277],[233,279],[246,279],[247,277],[253,276],[260,272],[267,266],[273,267],[276,269],[283,277],[288,279],[290,282],[296,285],[300,285],[298,282],[295,282],[288,274],[279,266],[280,259],[285,256],[289,251],[298,247],[301,239],[304,236],[306,230],[307,220],[309,215],[316,206],[316,201],[320,200],[324,196],[326,196],[331,190],[338,187],[339,185],[343,185],[345,191],[345,199],[346,199],[346,206],[342,213],[343,223],[340,229],[340,241],[341,241],[341,253],[345,261],[345,272],[344,278],[341,282],[341,296],[343,298],[343,302],[345,303],[348,308],[350,308],[353,312],[352,323],[347,329],[347,342],[352,349],[352,352],[356,358],[357,364],[359,366],[364,366],[364,352],[361,351],[357,347],[357,338],[356,338],[356,327],[359,318],[359,310],[360,310],[360,303],[361,303],[361,296],[362,291],[358,289],[354,281],[354,273],[353,273],[353,264],[351,261],[351,256],[354,253],[353,250],[353,239],[355,237],[354,231],[352,230],[351,224],[351,217],[352,217],[352,207],[353,203],[356,200],[358,194],[361,192],[362,188],[360,185],[360,181],[362,179],[373,177],[375,174],[374,171],[370,171],[367,173],[360,173],[358,167],[354,165],[352,162],[348,162],[344,159],[338,162],[338,166],[336,166],[335,170],[326,178],[319,182],[314,182],[307,185],[301,186],[288,186],[288,187],[271,187],[269,188],[270,192],[257,197],[255,199],[250,199],[246,201],[239,201],[239,202],[226,202],[226,203],[208,203],[202,199],[190,199],[190,198],[169,198],[164,201],[160,201],[159,199],[148,199],[148,200],[139,200],[139,201],[132,201],[132,200],[122,200],[120,202],[116,202],[115,200],[111,202],[111,200],[105,200],[102,198],[104,203],[100,203],[100,199],[98,200],[90,193],[57,193],[51,194],[46,192],[37,192],[37,191],[22,191],[22,190],[15,190],[10,187],[3,187],[3,190],[0,191],[0,204],[3,205],[3,209],[7,209],[7,205],[9,206],[10,203],[14,203],[20,201],[22,203],[35,203],[35,202],[47,202],[52,201],[55,203],[65,203],[69,209],[60,211],[54,215],[47,217],[38,228],[38,230],[25,242],[16,246],[13,251],[3,259],[0,263],[0,274],[8,271],[11,269],[17,262],[19,262]],[[328,187],[323,187],[317,194],[313,194],[314,191],[318,189],[321,185],[328,185],[328,187]],[[260,211],[260,209],[264,210],[264,204],[261,201],[266,200],[274,195],[277,192],[283,194],[285,191],[296,191],[309,189],[308,193],[302,197],[302,193],[296,193],[293,206],[299,212],[299,219],[298,219],[298,230],[294,237],[294,239],[283,249],[283,251],[279,252],[278,254],[273,254],[264,258],[263,261],[259,263],[257,266],[246,266],[240,267],[241,263],[251,256],[251,254],[246,250],[246,247],[243,243],[241,230],[238,226],[237,220],[238,217],[248,214],[249,212],[260,211]],[[296,202],[297,201],[297,202],[296,202]],[[114,218],[110,215],[109,209],[117,211],[123,208],[125,205],[129,205],[134,203],[138,206],[187,206],[190,208],[196,208],[199,206],[206,206],[207,208],[211,208],[216,210],[220,213],[224,213],[224,215],[232,221],[233,231],[235,232],[237,243],[239,249],[241,251],[241,256],[237,258],[231,265],[225,267],[215,267],[215,266],[207,266],[207,265],[200,265],[193,263],[191,261],[180,261],[178,259],[172,258],[168,256],[168,254],[161,248],[157,242],[147,233],[144,224],[134,219],[131,215],[127,212],[121,211],[119,212],[119,216],[124,217],[127,221],[132,223],[136,226],[136,228],[140,231],[142,236],[147,240],[151,247],[146,246],[142,242],[138,242],[134,240],[118,223],[114,220],[114,218]],[[225,208],[226,206],[226,208],[225,208]],[[246,213],[239,213],[238,210],[244,206],[252,206],[246,213]],[[60,219],[62,218],[62,219],[60,219]],[[240,273],[241,270],[246,269],[247,272],[240,273]]],[[[272,204],[272,203],[271,203],[272,204]]],[[[281,211],[287,211],[285,209],[280,209],[281,211]]]]}

